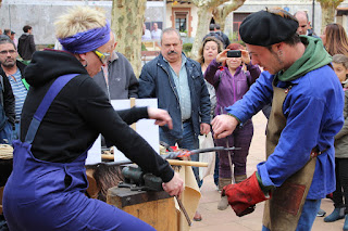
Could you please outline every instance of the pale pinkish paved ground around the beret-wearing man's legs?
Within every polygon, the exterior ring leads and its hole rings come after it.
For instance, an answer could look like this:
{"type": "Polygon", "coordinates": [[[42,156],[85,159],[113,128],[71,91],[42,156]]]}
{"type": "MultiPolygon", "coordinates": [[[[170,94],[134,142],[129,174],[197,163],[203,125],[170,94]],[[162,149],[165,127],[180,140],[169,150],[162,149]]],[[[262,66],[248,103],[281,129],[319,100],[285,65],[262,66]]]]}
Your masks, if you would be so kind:
{"type": "MultiPolygon", "coordinates": [[[[253,117],[254,134],[251,142],[250,154],[248,156],[247,171],[250,176],[259,162],[264,159],[264,144],[265,144],[265,124],[266,119],[262,113],[253,117]]],[[[201,221],[194,221],[192,231],[250,231],[261,230],[261,220],[263,211],[263,203],[257,205],[256,210],[241,218],[237,217],[233,209],[228,207],[226,210],[217,210],[217,202],[220,194],[213,183],[212,176],[204,179],[202,189],[202,197],[198,210],[202,215],[201,221]]],[[[321,206],[327,214],[333,210],[333,203],[328,198],[322,200],[321,206]]],[[[322,217],[318,217],[314,221],[313,231],[338,231],[343,230],[344,220],[326,223],[322,217]]]]}

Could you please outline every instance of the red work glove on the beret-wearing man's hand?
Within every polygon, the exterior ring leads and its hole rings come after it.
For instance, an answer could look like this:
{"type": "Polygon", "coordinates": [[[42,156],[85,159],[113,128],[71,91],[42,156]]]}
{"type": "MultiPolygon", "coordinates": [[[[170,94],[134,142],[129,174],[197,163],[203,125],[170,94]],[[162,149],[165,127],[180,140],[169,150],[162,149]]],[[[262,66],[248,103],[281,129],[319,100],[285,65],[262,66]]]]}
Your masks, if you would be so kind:
{"type": "Polygon", "coordinates": [[[270,198],[262,192],[256,172],[240,183],[224,187],[222,195],[227,195],[228,204],[238,217],[252,213],[256,204],[270,198]]]}

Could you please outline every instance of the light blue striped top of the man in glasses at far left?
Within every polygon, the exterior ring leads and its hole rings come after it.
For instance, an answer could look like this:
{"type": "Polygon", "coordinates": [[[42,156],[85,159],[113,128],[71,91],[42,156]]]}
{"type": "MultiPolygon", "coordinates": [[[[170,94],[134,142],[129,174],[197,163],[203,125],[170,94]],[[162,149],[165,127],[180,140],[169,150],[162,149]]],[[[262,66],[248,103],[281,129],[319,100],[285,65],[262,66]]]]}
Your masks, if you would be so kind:
{"type": "Polygon", "coordinates": [[[15,72],[15,74],[8,76],[9,81],[12,87],[14,101],[15,101],[15,120],[16,121],[21,120],[22,107],[23,107],[23,104],[24,104],[24,101],[25,101],[25,98],[27,94],[27,90],[24,87],[21,77],[22,77],[22,75],[21,75],[20,69],[17,69],[17,72],[15,72]]]}

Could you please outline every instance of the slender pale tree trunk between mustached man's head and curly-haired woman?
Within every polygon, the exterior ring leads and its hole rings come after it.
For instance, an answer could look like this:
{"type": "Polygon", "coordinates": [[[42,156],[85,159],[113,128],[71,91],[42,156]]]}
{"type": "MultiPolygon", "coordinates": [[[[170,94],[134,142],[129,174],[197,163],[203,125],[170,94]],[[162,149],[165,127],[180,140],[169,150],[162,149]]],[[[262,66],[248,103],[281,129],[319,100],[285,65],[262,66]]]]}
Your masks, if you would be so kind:
{"type": "Polygon", "coordinates": [[[192,50],[191,50],[191,59],[194,59],[194,60],[197,60],[198,50],[199,50],[200,46],[202,44],[203,37],[209,31],[209,23],[211,20],[212,10],[208,7],[200,7],[198,9],[197,15],[198,15],[199,20],[198,20],[196,37],[195,37],[195,41],[194,41],[192,50]]]}

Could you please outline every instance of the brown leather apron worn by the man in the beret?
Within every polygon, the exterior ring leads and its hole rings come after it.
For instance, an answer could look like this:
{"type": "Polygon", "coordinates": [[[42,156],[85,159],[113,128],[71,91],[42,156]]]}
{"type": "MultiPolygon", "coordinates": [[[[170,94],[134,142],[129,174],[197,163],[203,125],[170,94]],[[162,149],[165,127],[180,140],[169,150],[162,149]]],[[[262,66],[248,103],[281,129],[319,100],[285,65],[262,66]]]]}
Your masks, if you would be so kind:
{"type": "MultiPolygon", "coordinates": [[[[291,88],[277,88],[274,81],[272,111],[266,128],[266,157],[274,152],[282,130],[286,126],[283,103],[291,88]]],[[[262,221],[263,226],[271,231],[296,230],[314,175],[316,161],[314,154],[314,152],[309,153],[310,161],[281,187],[272,190],[271,200],[266,201],[264,205],[262,221]]]]}

